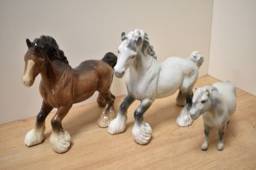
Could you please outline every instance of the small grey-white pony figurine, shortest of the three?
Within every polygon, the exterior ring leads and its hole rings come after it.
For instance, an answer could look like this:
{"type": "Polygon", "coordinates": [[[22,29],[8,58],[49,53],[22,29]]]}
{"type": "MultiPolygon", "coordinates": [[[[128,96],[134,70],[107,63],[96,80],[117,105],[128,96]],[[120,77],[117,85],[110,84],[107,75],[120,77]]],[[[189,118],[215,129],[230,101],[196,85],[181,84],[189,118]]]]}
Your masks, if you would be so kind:
{"type": "Polygon", "coordinates": [[[223,150],[223,134],[229,117],[236,110],[236,87],[228,82],[215,83],[212,86],[197,88],[193,95],[193,104],[189,110],[195,120],[202,114],[205,126],[205,141],[202,150],[208,149],[210,128],[219,129],[217,149],[223,150]]]}

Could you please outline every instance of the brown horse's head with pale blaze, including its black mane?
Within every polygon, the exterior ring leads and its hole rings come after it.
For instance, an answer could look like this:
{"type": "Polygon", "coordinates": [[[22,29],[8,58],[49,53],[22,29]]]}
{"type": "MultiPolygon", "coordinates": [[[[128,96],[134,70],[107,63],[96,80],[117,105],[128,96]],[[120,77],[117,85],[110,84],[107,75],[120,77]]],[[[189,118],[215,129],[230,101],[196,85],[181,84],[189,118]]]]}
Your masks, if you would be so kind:
{"type": "Polygon", "coordinates": [[[28,51],[24,56],[23,82],[27,87],[33,85],[37,75],[46,68],[47,61],[60,60],[68,63],[67,57],[64,56],[63,51],[59,49],[59,45],[51,36],[41,36],[33,42],[27,39],[26,43],[28,51]]]}

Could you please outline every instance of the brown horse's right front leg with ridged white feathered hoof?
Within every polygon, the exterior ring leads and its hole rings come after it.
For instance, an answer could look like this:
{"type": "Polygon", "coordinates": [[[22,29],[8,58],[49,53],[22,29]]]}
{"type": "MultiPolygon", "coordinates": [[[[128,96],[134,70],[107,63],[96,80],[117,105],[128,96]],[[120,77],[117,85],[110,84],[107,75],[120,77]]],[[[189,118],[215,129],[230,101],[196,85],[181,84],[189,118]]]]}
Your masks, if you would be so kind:
{"type": "Polygon", "coordinates": [[[70,146],[71,137],[66,130],[63,130],[61,121],[67,115],[72,106],[61,106],[58,108],[57,113],[51,119],[52,134],[50,135],[50,142],[53,145],[54,151],[63,153],[67,151],[70,146]]]}

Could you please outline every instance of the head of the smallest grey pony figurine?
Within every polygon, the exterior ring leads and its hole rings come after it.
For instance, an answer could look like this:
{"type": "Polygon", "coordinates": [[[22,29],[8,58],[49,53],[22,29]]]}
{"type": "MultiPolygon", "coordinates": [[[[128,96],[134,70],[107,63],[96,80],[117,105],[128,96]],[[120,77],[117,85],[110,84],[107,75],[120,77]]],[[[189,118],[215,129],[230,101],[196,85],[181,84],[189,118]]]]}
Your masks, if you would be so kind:
{"type": "Polygon", "coordinates": [[[213,86],[196,88],[193,94],[192,107],[189,109],[189,114],[193,120],[210,109],[211,99],[215,92],[218,92],[218,89],[213,86]]]}

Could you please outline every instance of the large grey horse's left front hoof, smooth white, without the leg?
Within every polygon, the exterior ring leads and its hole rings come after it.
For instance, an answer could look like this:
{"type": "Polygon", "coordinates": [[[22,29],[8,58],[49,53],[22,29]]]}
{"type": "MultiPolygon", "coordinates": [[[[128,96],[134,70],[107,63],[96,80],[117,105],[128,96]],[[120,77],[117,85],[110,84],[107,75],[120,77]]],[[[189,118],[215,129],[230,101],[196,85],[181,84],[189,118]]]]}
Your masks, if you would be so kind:
{"type": "Polygon", "coordinates": [[[111,121],[110,125],[108,126],[108,132],[110,134],[119,134],[124,132],[126,128],[126,122],[127,122],[127,115],[117,115],[113,121],[111,121]]]}

